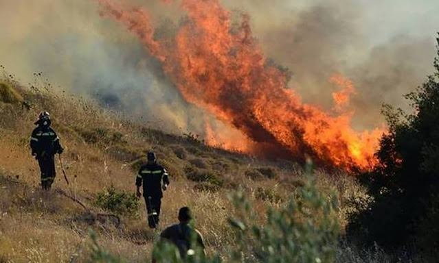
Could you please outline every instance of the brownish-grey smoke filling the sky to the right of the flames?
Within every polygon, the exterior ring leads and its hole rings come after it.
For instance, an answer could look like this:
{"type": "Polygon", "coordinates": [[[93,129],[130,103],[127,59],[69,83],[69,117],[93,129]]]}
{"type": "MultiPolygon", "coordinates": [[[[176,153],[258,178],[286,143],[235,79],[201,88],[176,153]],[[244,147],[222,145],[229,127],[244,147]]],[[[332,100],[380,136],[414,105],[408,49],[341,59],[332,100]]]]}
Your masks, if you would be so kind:
{"type": "Polygon", "coordinates": [[[403,95],[432,71],[439,2],[434,0],[224,1],[248,10],[264,53],[287,66],[289,86],[329,109],[341,73],[352,80],[354,127],[376,127],[382,103],[407,110],[403,95]]]}

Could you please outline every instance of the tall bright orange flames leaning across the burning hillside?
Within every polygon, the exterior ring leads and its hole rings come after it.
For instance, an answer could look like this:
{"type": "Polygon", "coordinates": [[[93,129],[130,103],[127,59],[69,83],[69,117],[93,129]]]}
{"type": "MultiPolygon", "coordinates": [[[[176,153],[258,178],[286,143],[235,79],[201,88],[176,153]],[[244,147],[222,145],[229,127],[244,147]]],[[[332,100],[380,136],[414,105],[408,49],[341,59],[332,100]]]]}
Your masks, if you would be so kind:
{"type": "MultiPolygon", "coordinates": [[[[251,144],[238,145],[249,153],[269,152],[295,160],[310,155],[319,164],[350,170],[368,169],[376,162],[382,129],[355,132],[352,112],[331,116],[315,105],[302,103],[287,86],[284,71],[269,63],[254,40],[249,17],[232,25],[231,13],[219,0],[182,0],[187,13],[172,39],[154,39],[150,15],[142,8],[97,0],[106,16],[126,25],[159,60],[164,71],[190,103],[238,129],[251,144]]],[[[167,0],[166,2],[170,2],[167,0]]],[[[331,82],[337,109],[354,94],[351,82],[335,76],[331,82]]],[[[207,125],[207,142],[231,148],[232,138],[221,137],[207,125]]]]}

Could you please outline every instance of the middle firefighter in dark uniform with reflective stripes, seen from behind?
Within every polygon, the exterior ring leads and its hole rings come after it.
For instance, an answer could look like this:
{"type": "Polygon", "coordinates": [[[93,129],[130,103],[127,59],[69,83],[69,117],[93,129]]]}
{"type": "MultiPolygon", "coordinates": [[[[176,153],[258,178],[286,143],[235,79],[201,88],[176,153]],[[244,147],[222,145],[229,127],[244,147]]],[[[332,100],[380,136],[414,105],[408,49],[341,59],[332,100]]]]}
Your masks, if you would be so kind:
{"type": "Polygon", "coordinates": [[[162,189],[166,191],[169,185],[169,176],[163,166],[157,164],[155,153],[148,153],[148,163],[142,166],[137,174],[135,185],[137,197],[141,197],[140,186],[143,183],[143,195],[148,213],[148,225],[157,228],[159,224],[162,189]],[[163,184],[162,184],[163,182],[163,184]]]}

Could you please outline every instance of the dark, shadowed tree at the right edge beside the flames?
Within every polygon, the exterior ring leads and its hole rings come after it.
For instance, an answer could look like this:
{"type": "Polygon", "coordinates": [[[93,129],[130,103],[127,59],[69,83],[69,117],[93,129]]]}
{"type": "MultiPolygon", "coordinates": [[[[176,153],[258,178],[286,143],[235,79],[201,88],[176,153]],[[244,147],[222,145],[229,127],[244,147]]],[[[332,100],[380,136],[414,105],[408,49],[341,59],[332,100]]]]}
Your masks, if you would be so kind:
{"type": "MultiPolygon", "coordinates": [[[[381,138],[376,154],[379,165],[360,177],[374,203],[355,215],[348,227],[350,234],[361,236],[362,241],[376,241],[385,247],[403,245],[416,239],[418,229],[425,229],[425,225],[420,225],[431,222],[425,216],[437,216],[434,211],[439,204],[435,201],[439,190],[438,59],[439,47],[434,75],[406,96],[412,102],[413,114],[404,114],[389,105],[383,110],[390,129],[381,138]]],[[[438,229],[436,225],[437,222],[428,228],[438,229]]],[[[439,236],[431,238],[437,244],[439,236]]]]}

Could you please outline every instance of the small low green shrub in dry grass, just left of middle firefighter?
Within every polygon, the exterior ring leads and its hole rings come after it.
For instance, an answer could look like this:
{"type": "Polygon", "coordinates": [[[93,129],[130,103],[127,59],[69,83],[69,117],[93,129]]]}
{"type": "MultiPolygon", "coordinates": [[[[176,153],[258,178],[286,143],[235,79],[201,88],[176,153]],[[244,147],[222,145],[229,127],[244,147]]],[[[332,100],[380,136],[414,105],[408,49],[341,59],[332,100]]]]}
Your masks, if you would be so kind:
{"type": "Polygon", "coordinates": [[[139,199],[134,194],[126,193],[111,186],[96,194],[95,204],[115,214],[137,216],[139,199]]]}

